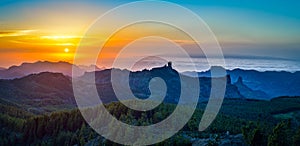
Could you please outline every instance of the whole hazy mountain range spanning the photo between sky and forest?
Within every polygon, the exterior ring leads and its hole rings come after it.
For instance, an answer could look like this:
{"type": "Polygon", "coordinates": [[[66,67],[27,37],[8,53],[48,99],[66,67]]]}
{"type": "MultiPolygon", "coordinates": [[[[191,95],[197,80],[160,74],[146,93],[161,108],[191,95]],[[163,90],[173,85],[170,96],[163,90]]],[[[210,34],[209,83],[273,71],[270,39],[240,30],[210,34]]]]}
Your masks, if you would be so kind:
{"type": "MultiPolygon", "coordinates": [[[[119,77],[117,84],[126,86],[129,82],[134,96],[141,99],[146,99],[151,94],[150,80],[160,77],[167,86],[164,102],[177,103],[181,89],[180,74],[184,74],[185,78],[199,80],[199,102],[207,102],[211,92],[210,71],[200,72],[198,76],[193,77],[189,76],[188,72],[179,73],[168,66],[134,72],[96,67],[97,71],[90,72],[89,69],[94,67],[75,66],[82,71],[75,78],[78,82],[91,84],[89,79],[95,74],[96,87],[103,103],[118,101],[111,83],[112,71],[119,77]],[[125,76],[128,74],[129,81],[126,82],[125,76]]],[[[72,64],[66,62],[36,62],[0,70],[3,78],[0,79],[0,99],[34,113],[75,107],[71,69],[72,64]],[[12,74],[9,76],[8,73],[12,74]]],[[[258,72],[236,69],[227,71],[226,76],[215,78],[227,80],[225,98],[270,100],[278,96],[300,95],[299,72],[258,72]]],[[[89,91],[83,92],[89,95],[89,91]]]]}

